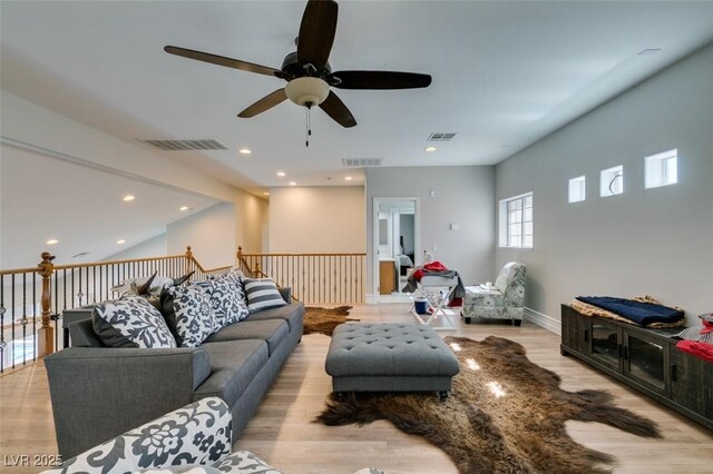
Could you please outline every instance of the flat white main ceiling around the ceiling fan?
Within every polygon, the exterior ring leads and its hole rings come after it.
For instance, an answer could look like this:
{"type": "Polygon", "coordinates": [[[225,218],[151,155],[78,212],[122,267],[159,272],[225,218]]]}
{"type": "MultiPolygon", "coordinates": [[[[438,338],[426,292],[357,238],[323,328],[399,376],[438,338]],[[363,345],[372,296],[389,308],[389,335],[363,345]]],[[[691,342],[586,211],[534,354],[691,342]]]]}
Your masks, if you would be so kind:
{"type": "Polygon", "coordinates": [[[163,51],[174,45],[280,68],[304,4],[3,1],[1,86],[134,142],[216,138],[231,150],[164,155],[262,195],[290,180],[339,185],[351,174],[351,185],[363,182],[342,158],[497,164],[713,41],[705,1],[341,1],[333,70],[423,72],[433,82],[339,90],[359,125],[343,129],[315,110],[309,148],[304,109],[291,102],[236,118],[284,81],[163,51]],[[458,135],[427,154],[431,132],[458,135]]]}

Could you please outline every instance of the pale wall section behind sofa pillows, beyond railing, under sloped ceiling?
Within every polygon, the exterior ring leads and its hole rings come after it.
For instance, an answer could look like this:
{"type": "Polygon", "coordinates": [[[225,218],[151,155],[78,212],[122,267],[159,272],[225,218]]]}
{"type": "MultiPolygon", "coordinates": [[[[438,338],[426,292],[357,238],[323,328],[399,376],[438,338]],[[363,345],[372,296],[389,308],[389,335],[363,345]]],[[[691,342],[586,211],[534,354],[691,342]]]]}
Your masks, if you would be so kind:
{"type": "Polygon", "coordinates": [[[191,246],[193,256],[206,270],[235,265],[235,206],[217,204],[166,227],[168,255],[183,255],[191,246]]]}

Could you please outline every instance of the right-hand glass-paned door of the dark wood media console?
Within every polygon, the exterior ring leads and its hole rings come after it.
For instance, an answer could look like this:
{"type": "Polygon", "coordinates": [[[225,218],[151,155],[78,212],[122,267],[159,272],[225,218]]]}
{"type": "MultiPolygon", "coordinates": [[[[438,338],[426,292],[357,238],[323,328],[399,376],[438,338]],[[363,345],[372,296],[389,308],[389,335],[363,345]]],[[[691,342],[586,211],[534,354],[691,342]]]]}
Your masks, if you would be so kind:
{"type": "Polygon", "coordinates": [[[661,394],[668,394],[671,345],[645,333],[623,330],[623,373],[661,394]]]}

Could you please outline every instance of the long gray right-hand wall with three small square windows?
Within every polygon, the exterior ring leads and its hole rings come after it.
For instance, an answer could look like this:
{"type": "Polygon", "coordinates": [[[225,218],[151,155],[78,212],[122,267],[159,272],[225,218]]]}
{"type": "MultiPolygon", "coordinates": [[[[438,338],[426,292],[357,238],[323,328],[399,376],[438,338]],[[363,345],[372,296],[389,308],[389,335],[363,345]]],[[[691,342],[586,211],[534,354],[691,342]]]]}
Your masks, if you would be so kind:
{"type": "Polygon", "coordinates": [[[713,47],[685,59],[496,167],[499,199],[534,191],[526,305],[559,319],[577,295],[651,295],[713,309],[713,47]],[[644,157],[678,149],[678,184],[644,189],[644,157]],[[599,170],[624,166],[624,194],[600,198],[599,170]],[[587,199],[567,204],[586,175],[587,199]]]}

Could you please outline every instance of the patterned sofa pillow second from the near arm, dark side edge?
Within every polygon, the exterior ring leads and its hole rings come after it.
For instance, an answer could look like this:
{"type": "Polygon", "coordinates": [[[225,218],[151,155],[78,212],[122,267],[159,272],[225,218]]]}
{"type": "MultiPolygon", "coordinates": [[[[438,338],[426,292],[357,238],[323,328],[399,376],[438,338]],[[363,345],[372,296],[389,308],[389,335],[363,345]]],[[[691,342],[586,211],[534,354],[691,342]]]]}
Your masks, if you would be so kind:
{"type": "Polygon", "coordinates": [[[166,287],[160,294],[160,305],[180,347],[196,347],[218,329],[211,295],[199,286],[166,287]]]}

